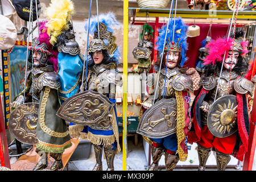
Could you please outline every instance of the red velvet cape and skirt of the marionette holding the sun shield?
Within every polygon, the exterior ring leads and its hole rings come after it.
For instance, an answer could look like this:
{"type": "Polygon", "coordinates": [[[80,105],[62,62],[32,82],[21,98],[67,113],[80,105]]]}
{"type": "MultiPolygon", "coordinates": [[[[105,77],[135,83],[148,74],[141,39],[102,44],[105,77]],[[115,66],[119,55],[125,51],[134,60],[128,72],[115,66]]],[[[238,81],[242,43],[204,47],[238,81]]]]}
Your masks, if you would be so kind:
{"type": "Polygon", "coordinates": [[[238,131],[229,137],[218,138],[214,137],[207,126],[202,125],[200,113],[201,102],[208,94],[208,90],[203,87],[200,88],[195,100],[192,104],[192,127],[188,132],[188,143],[197,142],[201,146],[216,148],[224,154],[233,155],[238,160],[243,161],[243,156],[247,151],[248,135],[249,135],[249,115],[247,111],[247,101],[245,94],[237,93],[237,123],[238,131]],[[197,109],[197,112],[196,112],[197,109]]]}

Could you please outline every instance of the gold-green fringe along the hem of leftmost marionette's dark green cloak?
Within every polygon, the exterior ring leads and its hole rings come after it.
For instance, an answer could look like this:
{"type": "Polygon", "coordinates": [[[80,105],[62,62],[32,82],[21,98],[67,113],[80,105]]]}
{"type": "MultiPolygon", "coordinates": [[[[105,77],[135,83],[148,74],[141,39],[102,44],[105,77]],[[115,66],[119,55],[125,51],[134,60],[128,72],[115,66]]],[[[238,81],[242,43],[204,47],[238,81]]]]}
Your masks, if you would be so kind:
{"type": "Polygon", "coordinates": [[[44,152],[49,152],[49,153],[54,153],[54,154],[59,154],[63,153],[66,148],[69,148],[72,146],[71,140],[69,140],[67,143],[64,145],[60,145],[61,147],[57,146],[56,144],[54,146],[47,146],[46,144],[38,141],[36,144],[36,148],[38,150],[42,150],[44,152]]]}

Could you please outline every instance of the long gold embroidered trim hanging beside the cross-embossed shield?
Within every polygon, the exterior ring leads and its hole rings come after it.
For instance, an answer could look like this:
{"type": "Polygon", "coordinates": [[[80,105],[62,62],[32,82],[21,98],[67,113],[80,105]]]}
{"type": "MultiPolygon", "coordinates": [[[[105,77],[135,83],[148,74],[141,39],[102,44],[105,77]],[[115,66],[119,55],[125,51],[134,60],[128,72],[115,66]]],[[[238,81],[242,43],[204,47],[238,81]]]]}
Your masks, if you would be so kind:
{"type": "Polygon", "coordinates": [[[187,160],[188,154],[185,154],[183,149],[180,146],[180,143],[184,140],[184,127],[185,127],[185,108],[184,101],[181,91],[175,90],[175,97],[177,101],[177,126],[176,126],[176,135],[177,135],[177,147],[179,158],[181,161],[187,160]]]}

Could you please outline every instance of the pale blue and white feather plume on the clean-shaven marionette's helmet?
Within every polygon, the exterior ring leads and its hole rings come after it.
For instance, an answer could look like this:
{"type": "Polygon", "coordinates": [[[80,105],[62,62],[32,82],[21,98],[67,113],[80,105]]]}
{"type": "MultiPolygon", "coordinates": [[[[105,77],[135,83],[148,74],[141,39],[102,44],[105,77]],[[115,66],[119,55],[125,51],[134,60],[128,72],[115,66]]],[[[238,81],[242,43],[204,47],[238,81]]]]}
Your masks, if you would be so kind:
{"type": "MultiPolygon", "coordinates": [[[[112,32],[112,34],[113,34],[113,30],[112,30],[113,26],[119,25],[119,22],[117,21],[117,19],[115,18],[114,13],[112,13],[112,12],[109,12],[109,13],[106,13],[106,14],[100,14],[100,15],[98,15],[98,17],[97,17],[97,15],[93,15],[92,17],[90,17],[90,25],[89,25],[89,34],[90,35],[93,36],[94,32],[97,31],[98,22],[99,23],[102,22],[102,23],[106,24],[106,26],[108,27],[107,31],[112,32]]],[[[87,29],[88,29],[88,24],[89,24],[89,19],[87,19],[86,22],[85,22],[85,26],[84,26],[85,31],[87,31],[87,29]]],[[[104,39],[104,43],[106,45],[108,45],[109,42],[108,42],[108,40],[104,39]]],[[[113,61],[116,64],[119,63],[118,59],[119,59],[120,56],[121,56],[121,54],[119,52],[118,47],[114,51],[113,55],[110,55],[110,57],[113,59],[113,61]]]]}

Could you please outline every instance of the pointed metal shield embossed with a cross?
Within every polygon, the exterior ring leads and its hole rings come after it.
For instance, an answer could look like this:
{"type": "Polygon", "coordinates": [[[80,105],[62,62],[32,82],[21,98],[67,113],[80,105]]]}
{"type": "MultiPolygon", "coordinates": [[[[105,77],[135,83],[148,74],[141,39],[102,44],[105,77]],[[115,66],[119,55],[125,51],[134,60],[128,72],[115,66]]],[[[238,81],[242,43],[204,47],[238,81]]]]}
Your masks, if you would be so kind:
{"type": "Polygon", "coordinates": [[[163,138],[174,134],[176,115],[175,98],[162,99],[144,112],[137,133],[149,138],[163,138]]]}

